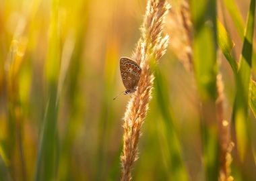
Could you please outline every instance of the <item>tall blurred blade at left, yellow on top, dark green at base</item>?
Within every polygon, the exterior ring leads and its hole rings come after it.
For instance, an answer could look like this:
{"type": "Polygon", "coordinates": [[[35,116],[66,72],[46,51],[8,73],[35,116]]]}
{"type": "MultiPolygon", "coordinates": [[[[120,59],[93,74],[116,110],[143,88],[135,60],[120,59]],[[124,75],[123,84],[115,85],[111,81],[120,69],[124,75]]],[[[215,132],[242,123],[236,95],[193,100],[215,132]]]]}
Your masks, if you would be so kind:
{"type": "Polygon", "coordinates": [[[46,80],[48,82],[48,103],[44,115],[43,129],[36,162],[34,180],[55,180],[56,144],[57,144],[57,80],[59,78],[59,32],[58,0],[52,1],[51,24],[49,34],[49,52],[46,62],[46,80]]]}

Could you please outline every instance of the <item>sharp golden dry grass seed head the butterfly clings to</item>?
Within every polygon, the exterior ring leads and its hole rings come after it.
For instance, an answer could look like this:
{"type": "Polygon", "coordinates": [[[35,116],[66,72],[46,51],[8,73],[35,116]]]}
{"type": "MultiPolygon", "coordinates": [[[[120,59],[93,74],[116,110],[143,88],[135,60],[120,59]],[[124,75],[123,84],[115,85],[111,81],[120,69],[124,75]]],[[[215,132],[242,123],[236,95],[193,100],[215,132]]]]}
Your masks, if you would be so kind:
{"type": "Polygon", "coordinates": [[[133,60],[141,66],[141,76],[137,91],[125,111],[121,180],[131,180],[131,168],[138,158],[137,145],[141,135],[141,125],[148,111],[154,81],[149,64],[152,59],[158,62],[166,52],[168,36],[162,37],[162,29],[169,9],[170,5],[164,0],[148,1],[146,16],[141,27],[141,38],[133,53],[133,60]]]}

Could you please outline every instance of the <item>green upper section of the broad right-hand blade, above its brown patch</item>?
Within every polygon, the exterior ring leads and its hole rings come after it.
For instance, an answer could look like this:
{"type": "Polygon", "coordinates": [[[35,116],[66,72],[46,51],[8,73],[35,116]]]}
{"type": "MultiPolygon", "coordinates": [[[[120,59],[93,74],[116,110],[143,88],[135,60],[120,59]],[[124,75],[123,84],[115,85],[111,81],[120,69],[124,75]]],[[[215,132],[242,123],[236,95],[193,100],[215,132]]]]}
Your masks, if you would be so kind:
{"type": "MultiPolygon", "coordinates": [[[[197,86],[199,87],[200,95],[203,99],[216,98],[216,14],[212,10],[207,11],[207,1],[201,2],[192,1],[192,19],[195,24],[195,41],[193,44],[194,50],[194,69],[197,86]],[[200,7],[198,4],[205,4],[200,7]],[[202,9],[200,9],[202,8],[202,9]],[[199,15],[199,12],[207,12],[199,15]],[[212,13],[214,17],[212,17],[212,13]],[[194,13],[194,14],[193,14],[194,13]],[[208,17],[211,23],[206,23],[208,17]]],[[[209,9],[214,9],[213,7],[209,9]]],[[[215,11],[215,10],[214,10],[215,11]]]]}

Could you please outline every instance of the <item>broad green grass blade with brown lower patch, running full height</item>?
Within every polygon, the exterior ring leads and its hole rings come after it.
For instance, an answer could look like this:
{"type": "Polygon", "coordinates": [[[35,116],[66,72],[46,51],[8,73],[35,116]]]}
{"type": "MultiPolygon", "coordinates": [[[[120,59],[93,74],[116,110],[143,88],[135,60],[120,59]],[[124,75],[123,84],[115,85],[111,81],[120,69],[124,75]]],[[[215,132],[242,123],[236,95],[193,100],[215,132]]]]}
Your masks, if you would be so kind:
{"type": "Polygon", "coordinates": [[[205,180],[218,180],[219,144],[216,121],[217,26],[216,1],[191,1],[194,26],[193,60],[201,97],[201,134],[205,180]]]}

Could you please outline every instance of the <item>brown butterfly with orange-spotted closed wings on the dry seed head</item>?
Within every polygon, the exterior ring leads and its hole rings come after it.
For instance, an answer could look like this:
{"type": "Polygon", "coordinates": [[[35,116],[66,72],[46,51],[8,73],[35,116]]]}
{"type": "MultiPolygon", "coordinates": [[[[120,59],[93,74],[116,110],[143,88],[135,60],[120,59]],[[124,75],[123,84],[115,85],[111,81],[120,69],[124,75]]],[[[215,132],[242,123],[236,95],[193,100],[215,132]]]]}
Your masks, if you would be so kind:
{"type": "MultiPolygon", "coordinates": [[[[122,93],[125,95],[134,93],[139,83],[141,74],[140,66],[135,61],[131,60],[131,58],[122,57],[120,58],[120,72],[123,85],[126,88],[126,91],[122,93]]],[[[121,93],[119,95],[121,95],[121,93]]],[[[119,97],[119,95],[117,97],[119,97]]],[[[114,100],[117,97],[115,97],[114,100]]]]}

